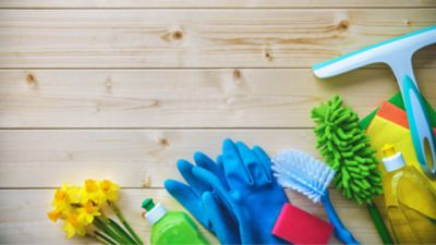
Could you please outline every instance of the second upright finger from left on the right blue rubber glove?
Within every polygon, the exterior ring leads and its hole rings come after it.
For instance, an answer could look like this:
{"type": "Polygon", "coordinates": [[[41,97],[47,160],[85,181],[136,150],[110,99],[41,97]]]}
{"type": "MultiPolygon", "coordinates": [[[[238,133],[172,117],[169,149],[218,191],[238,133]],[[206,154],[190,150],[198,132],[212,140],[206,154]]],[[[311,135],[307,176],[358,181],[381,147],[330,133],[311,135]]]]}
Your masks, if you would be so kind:
{"type": "Polygon", "coordinates": [[[244,143],[238,142],[237,147],[242,161],[247,169],[253,184],[269,183],[262,159],[259,159],[244,143]]]}

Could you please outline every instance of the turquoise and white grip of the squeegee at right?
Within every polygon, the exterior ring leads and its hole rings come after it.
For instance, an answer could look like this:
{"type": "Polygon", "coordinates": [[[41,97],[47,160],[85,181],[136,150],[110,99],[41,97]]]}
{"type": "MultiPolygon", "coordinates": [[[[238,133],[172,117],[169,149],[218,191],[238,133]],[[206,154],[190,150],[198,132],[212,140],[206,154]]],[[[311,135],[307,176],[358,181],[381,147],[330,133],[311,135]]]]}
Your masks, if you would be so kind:
{"type": "Polygon", "coordinates": [[[400,86],[417,161],[426,174],[436,177],[435,134],[425,110],[423,96],[409,75],[404,75],[400,86]]]}

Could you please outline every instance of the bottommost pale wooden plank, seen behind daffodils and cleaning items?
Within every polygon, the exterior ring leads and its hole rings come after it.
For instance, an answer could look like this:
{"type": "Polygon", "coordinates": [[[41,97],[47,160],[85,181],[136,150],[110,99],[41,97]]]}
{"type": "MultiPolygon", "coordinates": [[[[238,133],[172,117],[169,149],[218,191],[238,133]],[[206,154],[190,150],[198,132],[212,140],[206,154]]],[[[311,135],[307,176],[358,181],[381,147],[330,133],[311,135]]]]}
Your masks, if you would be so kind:
{"type": "MultiPolygon", "coordinates": [[[[154,197],[170,210],[183,210],[165,189],[123,189],[120,207],[135,231],[148,240],[150,229],[141,217],[140,205],[146,197],[154,197]]],[[[68,241],[61,230],[61,223],[52,223],[46,217],[53,195],[51,189],[1,189],[0,191],[0,243],[2,244],[88,244],[89,240],[80,237],[68,241]]],[[[326,219],[319,205],[293,192],[288,192],[293,205],[315,216],[326,219]]],[[[343,223],[354,233],[362,244],[382,244],[365,208],[344,199],[331,192],[331,200],[343,223]],[[359,222],[356,222],[359,221],[359,222]]],[[[199,225],[198,225],[199,226],[199,225]]],[[[216,240],[203,228],[202,232],[214,244],[216,240]]],[[[330,244],[338,244],[336,238],[330,244]]],[[[147,241],[148,244],[148,241],[147,241]]]]}

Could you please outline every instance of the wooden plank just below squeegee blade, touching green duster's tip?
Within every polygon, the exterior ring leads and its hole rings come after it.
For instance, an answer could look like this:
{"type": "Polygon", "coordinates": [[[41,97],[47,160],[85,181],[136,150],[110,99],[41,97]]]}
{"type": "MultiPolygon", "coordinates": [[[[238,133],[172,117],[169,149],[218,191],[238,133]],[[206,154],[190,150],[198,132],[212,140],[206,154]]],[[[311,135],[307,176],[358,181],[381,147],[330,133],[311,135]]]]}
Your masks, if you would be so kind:
{"type": "MultiPolygon", "coordinates": [[[[417,69],[436,106],[435,69],[417,69]]],[[[317,79],[307,69],[0,71],[1,127],[307,127],[339,94],[365,115],[398,90],[362,69],[317,79]]]]}

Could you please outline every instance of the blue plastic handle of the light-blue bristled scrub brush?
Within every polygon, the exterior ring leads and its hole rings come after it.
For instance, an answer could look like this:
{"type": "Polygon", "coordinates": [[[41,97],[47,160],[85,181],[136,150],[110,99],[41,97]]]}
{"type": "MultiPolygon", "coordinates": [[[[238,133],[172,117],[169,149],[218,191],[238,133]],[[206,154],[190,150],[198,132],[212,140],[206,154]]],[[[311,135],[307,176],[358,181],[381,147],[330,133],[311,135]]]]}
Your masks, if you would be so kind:
{"type": "Polygon", "coordinates": [[[326,213],[330,223],[335,226],[335,235],[344,244],[360,244],[351,232],[343,226],[341,220],[336,213],[334,206],[331,205],[330,197],[328,196],[328,192],[322,197],[320,201],[324,204],[324,208],[326,209],[326,213]]]}

